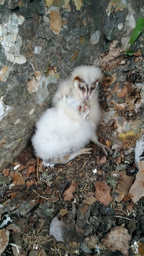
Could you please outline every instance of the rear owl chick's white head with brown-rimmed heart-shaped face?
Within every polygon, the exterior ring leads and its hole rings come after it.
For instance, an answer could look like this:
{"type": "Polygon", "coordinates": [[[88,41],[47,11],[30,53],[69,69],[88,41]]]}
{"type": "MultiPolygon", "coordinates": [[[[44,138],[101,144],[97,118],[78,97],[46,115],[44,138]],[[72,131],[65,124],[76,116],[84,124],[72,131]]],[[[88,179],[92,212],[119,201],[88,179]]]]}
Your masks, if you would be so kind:
{"type": "Polygon", "coordinates": [[[101,69],[94,66],[79,66],[71,74],[74,87],[85,103],[91,100],[99,81],[102,81],[101,69]]]}

